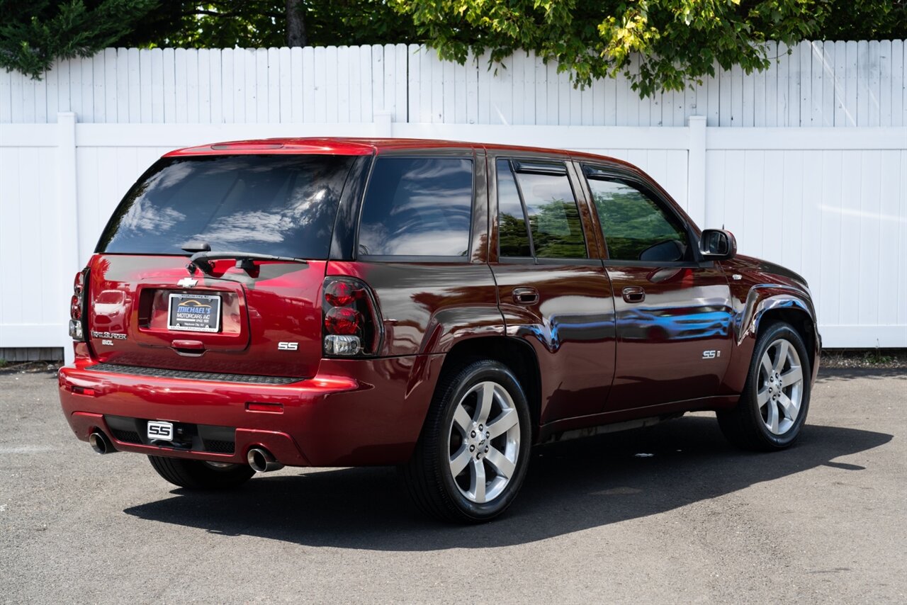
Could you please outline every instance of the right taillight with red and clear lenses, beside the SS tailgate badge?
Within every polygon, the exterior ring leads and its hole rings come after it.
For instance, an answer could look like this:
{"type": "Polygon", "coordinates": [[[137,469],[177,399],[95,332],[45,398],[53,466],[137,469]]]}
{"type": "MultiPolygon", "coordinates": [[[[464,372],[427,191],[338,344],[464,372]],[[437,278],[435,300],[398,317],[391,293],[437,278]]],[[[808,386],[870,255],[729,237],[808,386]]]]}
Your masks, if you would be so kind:
{"type": "Polygon", "coordinates": [[[375,355],[381,317],[368,286],[356,278],[325,278],[323,298],[325,355],[375,355]]]}

